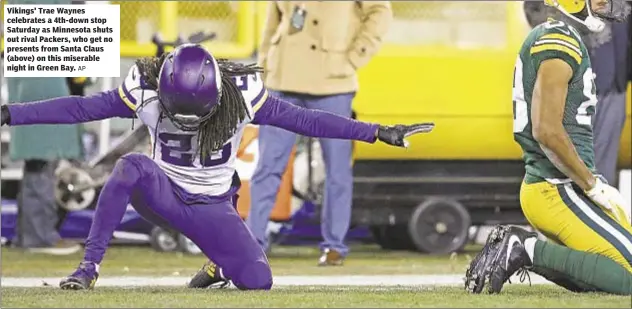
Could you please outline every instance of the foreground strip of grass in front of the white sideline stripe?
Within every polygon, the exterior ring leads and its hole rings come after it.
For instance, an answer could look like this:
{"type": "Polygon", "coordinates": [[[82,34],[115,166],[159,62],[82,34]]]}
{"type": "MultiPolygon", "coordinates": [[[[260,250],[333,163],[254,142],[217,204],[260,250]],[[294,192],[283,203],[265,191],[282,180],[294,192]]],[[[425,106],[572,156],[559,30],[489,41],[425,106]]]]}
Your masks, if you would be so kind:
{"type": "Polygon", "coordinates": [[[630,308],[629,297],[573,295],[554,286],[510,286],[501,295],[468,295],[460,288],[296,287],[268,292],[184,288],[3,288],[2,307],[65,308],[630,308]]]}

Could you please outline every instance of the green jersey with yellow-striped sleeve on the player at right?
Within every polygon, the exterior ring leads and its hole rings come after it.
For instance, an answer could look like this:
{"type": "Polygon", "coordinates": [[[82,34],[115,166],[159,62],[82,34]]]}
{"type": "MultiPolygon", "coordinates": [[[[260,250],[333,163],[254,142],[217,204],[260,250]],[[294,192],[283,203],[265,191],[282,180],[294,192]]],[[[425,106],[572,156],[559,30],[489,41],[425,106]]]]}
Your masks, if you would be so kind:
{"type": "Polygon", "coordinates": [[[562,124],[580,158],[594,171],[591,121],[597,96],[588,50],[576,29],[564,22],[551,20],[529,33],[514,68],[513,132],[514,139],[522,147],[527,173],[525,180],[528,183],[568,178],[546,157],[533,138],[531,127],[531,99],[538,68],[542,61],[553,58],[565,61],[573,70],[562,124]]]}

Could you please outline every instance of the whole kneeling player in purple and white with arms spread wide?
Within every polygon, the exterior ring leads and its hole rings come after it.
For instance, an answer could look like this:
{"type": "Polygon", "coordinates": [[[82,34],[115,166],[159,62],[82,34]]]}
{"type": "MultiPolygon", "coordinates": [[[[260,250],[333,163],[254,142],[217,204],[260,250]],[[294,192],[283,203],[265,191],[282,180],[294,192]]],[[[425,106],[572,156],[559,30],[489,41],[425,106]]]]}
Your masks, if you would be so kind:
{"type": "Polygon", "coordinates": [[[79,267],[62,289],[93,288],[108,242],[128,203],[153,223],[191,239],[213,261],[215,282],[244,290],[270,289],[261,246],[236,211],[236,152],[248,123],[298,134],[405,147],[405,138],[434,124],[381,126],[296,107],[269,96],[261,69],[215,59],[185,44],[161,57],[141,58],[118,88],[1,108],[2,124],[69,124],[139,118],[154,151],[123,156],[104,185],[79,267]]]}

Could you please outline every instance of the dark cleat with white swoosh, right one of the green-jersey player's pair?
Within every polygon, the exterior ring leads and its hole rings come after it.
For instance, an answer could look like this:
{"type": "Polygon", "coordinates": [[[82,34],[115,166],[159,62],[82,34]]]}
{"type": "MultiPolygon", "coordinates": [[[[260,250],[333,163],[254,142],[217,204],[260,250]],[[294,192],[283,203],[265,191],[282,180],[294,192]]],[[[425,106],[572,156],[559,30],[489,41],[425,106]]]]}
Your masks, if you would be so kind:
{"type": "Polygon", "coordinates": [[[496,229],[498,231],[495,233],[495,241],[500,245],[493,255],[489,269],[486,270],[489,276],[489,293],[500,293],[505,282],[511,283],[509,279],[515,273],[519,274],[521,282],[529,278],[527,269],[533,266],[533,263],[524,247],[524,241],[527,238],[538,237],[538,234],[516,226],[498,226],[496,229]]]}

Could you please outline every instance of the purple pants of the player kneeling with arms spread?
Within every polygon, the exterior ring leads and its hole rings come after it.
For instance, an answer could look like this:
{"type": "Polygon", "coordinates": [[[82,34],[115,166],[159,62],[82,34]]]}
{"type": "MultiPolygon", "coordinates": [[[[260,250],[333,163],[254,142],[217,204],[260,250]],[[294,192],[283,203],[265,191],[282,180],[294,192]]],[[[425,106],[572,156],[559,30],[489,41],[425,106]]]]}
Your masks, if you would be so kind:
{"type": "Polygon", "coordinates": [[[114,229],[131,201],[145,219],[171,227],[193,241],[238,288],[269,289],[270,265],[235,210],[234,199],[234,194],[190,194],[172,183],[147,156],[125,155],[99,196],[85,260],[101,263],[114,229]]]}

